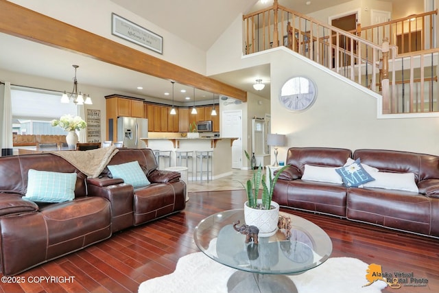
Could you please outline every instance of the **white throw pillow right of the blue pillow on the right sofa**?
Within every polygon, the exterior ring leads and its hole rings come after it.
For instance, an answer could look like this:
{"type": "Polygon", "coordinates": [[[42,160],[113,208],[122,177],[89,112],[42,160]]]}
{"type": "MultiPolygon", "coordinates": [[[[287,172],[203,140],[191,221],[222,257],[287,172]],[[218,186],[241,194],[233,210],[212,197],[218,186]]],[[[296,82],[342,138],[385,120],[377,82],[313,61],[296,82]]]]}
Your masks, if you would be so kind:
{"type": "Polygon", "coordinates": [[[414,181],[413,173],[374,172],[371,173],[370,176],[375,178],[375,180],[364,183],[362,187],[377,187],[412,191],[416,193],[419,192],[418,186],[414,181]]]}

